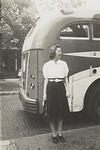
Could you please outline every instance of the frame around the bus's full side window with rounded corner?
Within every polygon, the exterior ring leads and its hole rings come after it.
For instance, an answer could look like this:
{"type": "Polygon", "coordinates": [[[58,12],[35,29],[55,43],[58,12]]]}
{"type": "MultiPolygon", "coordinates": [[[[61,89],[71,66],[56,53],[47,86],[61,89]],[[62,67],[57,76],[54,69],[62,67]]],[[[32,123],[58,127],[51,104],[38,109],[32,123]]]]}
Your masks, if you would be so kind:
{"type": "Polygon", "coordinates": [[[58,37],[59,37],[59,39],[61,39],[61,40],[90,40],[90,21],[75,21],[75,22],[70,22],[70,23],[68,23],[68,24],[64,24],[61,28],[60,28],[60,30],[59,30],[59,32],[58,32],[58,37]],[[60,34],[61,34],[61,31],[63,30],[63,29],[65,29],[65,28],[67,28],[68,26],[70,26],[70,25],[74,25],[74,24],[83,24],[83,25],[87,25],[88,26],[88,37],[61,37],[60,36],[60,34]]]}

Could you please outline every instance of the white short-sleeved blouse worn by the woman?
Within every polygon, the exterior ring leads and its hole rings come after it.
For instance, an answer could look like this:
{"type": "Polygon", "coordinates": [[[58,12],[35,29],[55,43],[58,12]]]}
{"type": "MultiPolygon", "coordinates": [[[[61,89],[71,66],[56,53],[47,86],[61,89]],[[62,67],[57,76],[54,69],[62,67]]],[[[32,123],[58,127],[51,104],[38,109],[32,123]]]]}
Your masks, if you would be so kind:
{"type": "Polygon", "coordinates": [[[68,76],[68,72],[67,63],[62,60],[58,60],[57,62],[50,60],[43,66],[44,78],[64,78],[68,76]]]}

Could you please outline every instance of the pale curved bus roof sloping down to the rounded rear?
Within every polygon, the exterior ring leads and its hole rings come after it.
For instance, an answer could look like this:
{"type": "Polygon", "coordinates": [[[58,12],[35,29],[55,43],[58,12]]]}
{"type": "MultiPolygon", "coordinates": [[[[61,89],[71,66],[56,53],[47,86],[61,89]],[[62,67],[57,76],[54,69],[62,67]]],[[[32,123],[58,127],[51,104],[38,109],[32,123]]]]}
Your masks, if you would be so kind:
{"type": "Polygon", "coordinates": [[[25,38],[22,52],[31,49],[46,49],[60,42],[61,39],[58,38],[57,34],[64,25],[85,20],[100,21],[100,10],[66,9],[51,11],[29,31],[25,38]]]}

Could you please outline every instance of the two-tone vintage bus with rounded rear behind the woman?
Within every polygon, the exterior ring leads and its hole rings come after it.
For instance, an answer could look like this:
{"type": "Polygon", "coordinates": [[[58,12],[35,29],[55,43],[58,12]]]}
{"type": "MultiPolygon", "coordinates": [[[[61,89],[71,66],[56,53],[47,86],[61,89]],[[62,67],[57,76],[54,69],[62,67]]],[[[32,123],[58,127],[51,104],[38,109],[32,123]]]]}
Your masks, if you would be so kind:
{"type": "Polygon", "coordinates": [[[22,50],[22,88],[19,99],[24,109],[42,113],[43,72],[49,49],[59,44],[62,60],[69,67],[70,112],[86,110],[100,119],[100,11],[61,10],[40,19],[27,34],[22,50]]]}

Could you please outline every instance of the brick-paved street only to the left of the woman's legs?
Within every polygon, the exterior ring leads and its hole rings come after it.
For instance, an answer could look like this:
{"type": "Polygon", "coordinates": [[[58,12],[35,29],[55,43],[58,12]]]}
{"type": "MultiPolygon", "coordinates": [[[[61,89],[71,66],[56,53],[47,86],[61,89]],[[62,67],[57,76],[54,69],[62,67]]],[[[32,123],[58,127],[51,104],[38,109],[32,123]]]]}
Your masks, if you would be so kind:
{"type": "Polygon", "coordinates": [[[37,118],[33,114],[24,112],[18,95],[2,96],[1,105],[3,140],[36,135],[44,133],[44,130],[50,131],[41,116],[37,118]]]}

